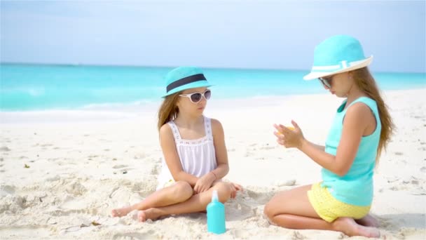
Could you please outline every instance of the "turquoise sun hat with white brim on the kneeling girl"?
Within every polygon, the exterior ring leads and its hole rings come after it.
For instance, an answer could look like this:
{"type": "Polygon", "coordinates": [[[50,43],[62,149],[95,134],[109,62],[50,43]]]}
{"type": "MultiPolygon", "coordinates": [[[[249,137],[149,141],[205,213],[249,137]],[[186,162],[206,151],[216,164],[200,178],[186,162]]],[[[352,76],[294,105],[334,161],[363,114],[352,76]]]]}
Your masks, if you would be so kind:
{"type": "Polygon", "coordinates": [[[357,39],[348,35],[331,36],[315,47],[314,64],[304,80],[317,79],[341,72],[349,72],[366,67],[373,60],[364,56],[362,46],[357,39]]]}

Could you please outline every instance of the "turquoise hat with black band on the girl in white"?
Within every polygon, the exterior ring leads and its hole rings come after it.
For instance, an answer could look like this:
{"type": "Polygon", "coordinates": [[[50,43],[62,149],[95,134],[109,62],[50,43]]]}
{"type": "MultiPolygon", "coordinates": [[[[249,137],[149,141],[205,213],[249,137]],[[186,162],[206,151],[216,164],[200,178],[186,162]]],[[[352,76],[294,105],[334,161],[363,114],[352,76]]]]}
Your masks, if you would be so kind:
{"type": "Polygon", "coordinates": [[[198,67],[177,67],[165,76],[166,94],[163,98],[189,88],[209,87],[202,70],[198,67]]]}

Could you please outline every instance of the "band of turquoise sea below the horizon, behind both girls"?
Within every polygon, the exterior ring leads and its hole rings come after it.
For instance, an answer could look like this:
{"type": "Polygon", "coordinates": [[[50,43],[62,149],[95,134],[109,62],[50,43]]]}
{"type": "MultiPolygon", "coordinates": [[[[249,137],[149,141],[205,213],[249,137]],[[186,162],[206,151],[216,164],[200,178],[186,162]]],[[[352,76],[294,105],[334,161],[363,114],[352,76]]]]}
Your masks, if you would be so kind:
{"type": "MultiPolygon", "coordinates": [[[[0,65],[0,111],[143,106],[165,94],[172,67],[0,65]]],[[[325,93],[319,81],[303,81],[308,69],[203,68],[212,98],[256,98],[325,93]]],[[[425,73],[373,72],[382,90],[426,88],[425,73]]]]}

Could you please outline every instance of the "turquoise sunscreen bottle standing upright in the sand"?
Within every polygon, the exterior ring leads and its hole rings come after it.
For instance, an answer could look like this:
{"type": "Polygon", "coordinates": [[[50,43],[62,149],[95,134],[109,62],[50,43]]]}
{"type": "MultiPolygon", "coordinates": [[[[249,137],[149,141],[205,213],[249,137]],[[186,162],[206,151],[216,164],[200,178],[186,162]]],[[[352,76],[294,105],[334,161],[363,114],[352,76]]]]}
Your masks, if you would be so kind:
{"type": "Polygon", "coordinates": [[[212,202],[207,205],[207,231],[223,234],[225,226],[225,206],[219,201],[217,190],[212,192],[212,202]]]}

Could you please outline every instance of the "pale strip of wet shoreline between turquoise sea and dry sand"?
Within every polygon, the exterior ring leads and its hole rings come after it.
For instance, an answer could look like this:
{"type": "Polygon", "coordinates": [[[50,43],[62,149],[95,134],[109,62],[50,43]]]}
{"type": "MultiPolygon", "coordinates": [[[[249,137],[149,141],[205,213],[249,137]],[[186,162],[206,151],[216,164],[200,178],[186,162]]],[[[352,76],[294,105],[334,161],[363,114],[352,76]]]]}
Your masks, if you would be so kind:
{"type": "MultiPolygon", "coordinates": [[[[393,96],[401,94],[419,95],[426,91],[426,88],[388,90],[383,91],[385,95],[393,96]]],[[[248,98],[230,98],[209,100],[205,114],[213,112],[233,112],[238,109],[253,109],[253,107],[273,107],[279,106],[282,102],[289,102],[292,99],[305,100],[312,98],[327,99],[328,102],[341,102],[328,92],[305,95],[262,95],[248,98]]],[[[161,100],[153,102],[128,103],[128,104],[99,104],[89,105],[76,109],[34,109],[34,110],[6,110],[0,111],[0,126],[13,126],[15,124],[78,124],[104,121],[125,121],[137,118],[156,117],[161,100]]],[[[220,120],[220,119],[219,119],[220,120]]]]}

